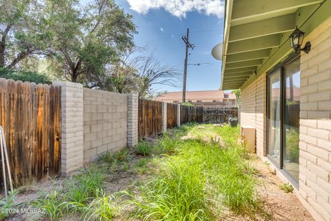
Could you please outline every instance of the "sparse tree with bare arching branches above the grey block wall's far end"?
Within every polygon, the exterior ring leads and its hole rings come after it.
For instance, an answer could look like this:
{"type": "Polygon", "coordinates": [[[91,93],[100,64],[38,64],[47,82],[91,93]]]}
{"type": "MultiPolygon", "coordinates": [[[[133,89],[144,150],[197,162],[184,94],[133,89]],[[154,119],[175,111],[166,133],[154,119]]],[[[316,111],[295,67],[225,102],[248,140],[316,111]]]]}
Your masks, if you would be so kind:
{"type": "Polygon", "coordinates": [[[154,97],[155,86],[178,87],[181,74],[177,68],[163,66],[153,55],[142,55],[143,48],[132,48],[107,68],[103,75],[88,75],[92,88],[116,93],[137,93],[139,97],[154,97]]]}

